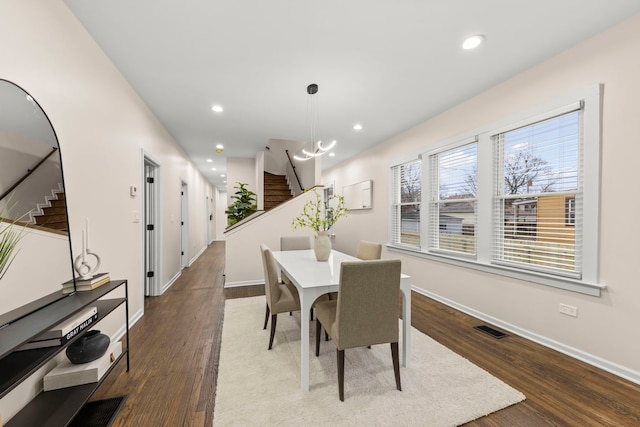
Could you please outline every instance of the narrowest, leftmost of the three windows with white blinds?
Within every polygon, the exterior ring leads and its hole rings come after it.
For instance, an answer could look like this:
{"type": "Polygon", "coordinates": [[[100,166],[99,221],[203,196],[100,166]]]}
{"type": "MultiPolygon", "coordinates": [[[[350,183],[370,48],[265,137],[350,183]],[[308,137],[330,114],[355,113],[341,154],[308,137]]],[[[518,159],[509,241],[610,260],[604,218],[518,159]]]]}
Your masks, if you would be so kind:
{"type": "Polygon", "coordinates": [[[422,197],[420,160],[393,166],[391,173],[391,243],[419,248],[422,197]]]}

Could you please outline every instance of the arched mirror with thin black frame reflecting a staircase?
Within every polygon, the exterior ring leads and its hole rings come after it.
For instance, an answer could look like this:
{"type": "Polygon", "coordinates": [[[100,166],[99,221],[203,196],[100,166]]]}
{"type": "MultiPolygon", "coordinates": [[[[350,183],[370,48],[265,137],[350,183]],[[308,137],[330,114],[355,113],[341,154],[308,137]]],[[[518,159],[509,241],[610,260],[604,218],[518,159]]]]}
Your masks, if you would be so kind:
{"type": "MultiPolygon", "coordinates": [[[[0,327],[73,281],[60,146],[25,90],[0,79],[0,327]]],[[[72,288],[73,289],[73,288],[72,288]]]]}

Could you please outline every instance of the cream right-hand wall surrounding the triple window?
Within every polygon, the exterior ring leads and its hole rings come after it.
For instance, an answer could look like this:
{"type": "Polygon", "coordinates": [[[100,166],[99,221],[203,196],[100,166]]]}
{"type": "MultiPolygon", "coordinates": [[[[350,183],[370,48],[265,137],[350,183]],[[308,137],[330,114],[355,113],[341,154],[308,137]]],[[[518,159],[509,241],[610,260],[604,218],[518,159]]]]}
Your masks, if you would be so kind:
{"type": "MultiPolygon", "coordinates": [[[[563,291],[385,250],[423,292],[443,297],[496,323],[640,382],[640,212],[633,172],[640,145],[640,15],[587,40],[492,89],[383,142],[323,175],[342,187],[373,179],[373,209],[351,212],[335,226],[338,250],[354,253],[357,242],[387,242],[391,159],[405,160],[431,144],[544,104],[596,83],[604,85],[602,121],[601,297],[563,291]],[[631,214],[621,220],[621,213],[631,214]],[[558,312],[578,307],[578,317],[558,312]],[[626,337],[626,338],[625,338],[626,337]]],[[[590,173],[590,171],[587,171],[590,173]]]]}

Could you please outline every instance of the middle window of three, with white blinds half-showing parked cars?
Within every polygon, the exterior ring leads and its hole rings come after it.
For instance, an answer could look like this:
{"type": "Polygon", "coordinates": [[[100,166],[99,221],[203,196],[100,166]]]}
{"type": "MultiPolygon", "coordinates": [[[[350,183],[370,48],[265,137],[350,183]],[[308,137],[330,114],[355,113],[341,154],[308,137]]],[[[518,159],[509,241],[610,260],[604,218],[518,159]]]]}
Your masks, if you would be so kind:
{"type": "Polygon", "coordinates": [[[477,143],[433,154],[429,161],[429,249],[475,255],[477,143]]]}

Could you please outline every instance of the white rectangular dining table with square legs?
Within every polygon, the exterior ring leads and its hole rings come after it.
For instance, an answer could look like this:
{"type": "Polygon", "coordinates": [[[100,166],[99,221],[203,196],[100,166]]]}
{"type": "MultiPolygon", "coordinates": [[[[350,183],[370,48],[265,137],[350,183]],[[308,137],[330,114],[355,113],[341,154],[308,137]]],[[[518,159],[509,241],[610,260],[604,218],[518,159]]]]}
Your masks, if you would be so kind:
{"type": "MultiPolygon", "coordinates": [[[[328,261],[317,261],[313,250],[274,251],[278,267],[291,279],[300,295],[300,383],[309,391],[309,327],[313,302],[329,292],[337,292],[340,285],[340,264],[360,261],[351,255],[331,251],[328,261]]],[[[408,366],[411,354],[411,277],[402,274],[402,365],[408,366]]]]}

